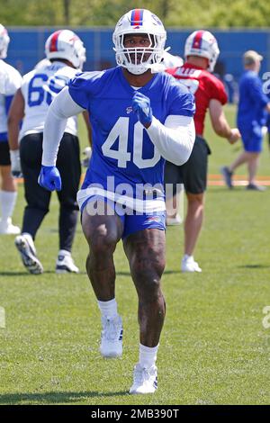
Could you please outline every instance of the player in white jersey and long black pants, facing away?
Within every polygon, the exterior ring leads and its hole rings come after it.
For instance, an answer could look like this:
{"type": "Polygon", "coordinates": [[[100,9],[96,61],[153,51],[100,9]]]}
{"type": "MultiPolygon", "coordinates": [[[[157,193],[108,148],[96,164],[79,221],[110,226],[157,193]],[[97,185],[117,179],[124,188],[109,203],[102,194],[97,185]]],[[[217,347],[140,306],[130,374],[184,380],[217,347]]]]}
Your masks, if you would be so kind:
{"type": "MultiPolygon", "coordinates": [[[[40,224],[49,211],[50,193],[38,184],[41,166],[44,121],[49,104],[76,76],[85,61],[85,48],[73,31],[53,32],[45,44],[49,63],[23,76],[9,113],[9,142],[14,173],[23,171],[27,205],[23,214],[22,235],[15,238],[23,265],[34,275],[43,272],[36,255],[34,239],[40,224]],[[19,122],[23,119],[20,130],[19,122]],[[19,149],[20,145],[20,149],[19,149]]],[[[77,118],[70,116],[63,127],[63,138],[58,152],[58,168],[62,177],[62,191],[58,193],[59,251],[57,273],[78,272],[71,257],[78,207],[76,192],[80,183],[81,166],[77,139],[77,118]]]]}

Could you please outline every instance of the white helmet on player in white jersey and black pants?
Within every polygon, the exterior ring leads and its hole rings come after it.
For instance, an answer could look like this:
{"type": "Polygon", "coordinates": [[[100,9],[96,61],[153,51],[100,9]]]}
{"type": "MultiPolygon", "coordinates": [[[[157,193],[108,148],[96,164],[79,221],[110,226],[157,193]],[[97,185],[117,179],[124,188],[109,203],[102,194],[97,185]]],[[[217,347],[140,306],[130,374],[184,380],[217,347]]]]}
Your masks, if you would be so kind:
{"type": "Polygon", "coordinates": [[[45,54],[49,60],[65,58],[76,68],[82,68],[86,60],[83,41],[69,30],[55,31],[49,35],[45,43],[45,54]]]}

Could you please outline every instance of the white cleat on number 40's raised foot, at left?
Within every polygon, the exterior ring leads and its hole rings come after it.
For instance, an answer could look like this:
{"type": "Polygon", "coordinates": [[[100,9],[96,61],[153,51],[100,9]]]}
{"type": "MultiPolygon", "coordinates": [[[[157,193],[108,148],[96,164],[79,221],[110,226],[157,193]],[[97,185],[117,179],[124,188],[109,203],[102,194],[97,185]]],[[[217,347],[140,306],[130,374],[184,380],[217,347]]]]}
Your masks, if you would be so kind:
{"type": "Polygon", "coordinates": [[[119,315],[112,319],[102,318],[100,352],[104,358],[120,357],[122,355],[122,322],[119,315]]]}

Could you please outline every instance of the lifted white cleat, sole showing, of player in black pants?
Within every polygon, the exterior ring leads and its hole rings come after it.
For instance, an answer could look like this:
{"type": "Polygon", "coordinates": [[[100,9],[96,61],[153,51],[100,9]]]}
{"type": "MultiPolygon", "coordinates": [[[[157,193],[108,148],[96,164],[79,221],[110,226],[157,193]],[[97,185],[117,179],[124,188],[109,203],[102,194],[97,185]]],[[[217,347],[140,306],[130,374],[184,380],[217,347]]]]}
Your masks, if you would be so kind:
{"type": "Polygon", "coordinates": [[[32,275],[40,275],[43,273],[43,266],[37,257],[36,248],[30,236],[19,235],[15,238],[15,246],[21,254],[23,266],[32,275]]]}

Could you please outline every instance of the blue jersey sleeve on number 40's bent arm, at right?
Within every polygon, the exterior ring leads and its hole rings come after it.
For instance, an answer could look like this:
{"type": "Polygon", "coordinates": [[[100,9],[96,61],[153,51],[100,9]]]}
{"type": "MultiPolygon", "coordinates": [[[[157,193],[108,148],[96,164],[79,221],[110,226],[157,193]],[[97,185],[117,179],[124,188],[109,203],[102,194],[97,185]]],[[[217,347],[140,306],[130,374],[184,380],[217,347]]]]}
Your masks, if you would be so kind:
{"type": "Polygon", "coordinates": [[[195,112],[195,98],[184,85],[175,82],[170,90],[171,103],[168,115],[180,115],[193,117],[195,112]]]}

